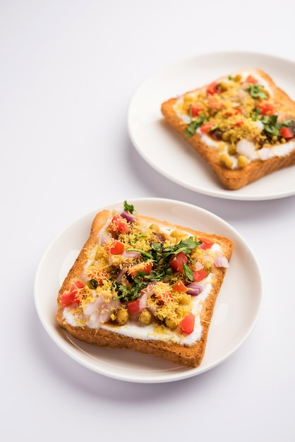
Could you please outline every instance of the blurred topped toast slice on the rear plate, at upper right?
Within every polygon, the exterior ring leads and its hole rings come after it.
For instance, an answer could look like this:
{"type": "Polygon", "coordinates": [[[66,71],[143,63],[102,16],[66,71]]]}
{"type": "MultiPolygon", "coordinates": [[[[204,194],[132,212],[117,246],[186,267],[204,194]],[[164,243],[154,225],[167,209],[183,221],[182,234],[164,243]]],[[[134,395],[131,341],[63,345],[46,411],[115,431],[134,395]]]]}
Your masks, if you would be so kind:
{"type": "Polygon", "coordinates": [[[229,190],[295,165],[295,102],[260,69],[219,78],[161,110],[229,190]]]}

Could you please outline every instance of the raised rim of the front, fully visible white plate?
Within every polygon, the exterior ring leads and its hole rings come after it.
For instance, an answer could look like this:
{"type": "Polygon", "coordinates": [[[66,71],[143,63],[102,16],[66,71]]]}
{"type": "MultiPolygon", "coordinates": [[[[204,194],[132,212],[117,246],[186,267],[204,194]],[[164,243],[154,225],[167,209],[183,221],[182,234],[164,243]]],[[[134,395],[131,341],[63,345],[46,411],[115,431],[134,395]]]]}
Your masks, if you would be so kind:
{"type": "MultiPolygon", "coordinates": [[[[80,225],[83,222],[86,222],[86,220],[88,220],[88,218],[91,220],[95,213],[97,213],[100,210],[103,210],[104,208],[114,208],[118,205],[122,204],[122,201],[117,201],[115,203],[110,203],[107,205],[103,205],[100,208],[97,208],[95,210],[91,210],[88,211],[88,213],[84,213],[83,215],[80,215],[80,217],[77,217],[76,220],[73,220],[71,223],[69,223],[66,227],[64,227],[64,229],[61,229],[61,231],[56,234],[56,236],[52,239],[52,241],[49,242],[47,248],[44,250],[44,253],[42,254],[42,257],[40,259],[40,262],[37,265],[37,270],[35,272],[35,279],[34,279],[34,301],[35,301],[35,309],[37,311],[37,315],[40,318],[40,322],[42,323],[44,330],[46,330],[47,334],[49,335],[49,337],[54,341],[54,343],[65,353],[67,354],[69,357],[71,357],[71,359],[75,360],[76,362],[78,362],[78,364],[85,366],[85,368],[90,369],[91,371],[94,371],[97,374],[101,374],[102,376],[107,376],[109,378],[115,378],[119,381],[128,381],[128,382],[133,382],[133,383],[167,383],[167,382],[173,382],[173,381],[180,381],[182,379],[185,378],[191,378],[193,376],[198,376],[199,374],[203,374],[205,371],[209,371],[210,369],[215,368],[216,366],[218,366],[219,364],[222,364],[222,362],[224,362],[225,360],[227,360],[232,354],[234,354],[234,352],[236,352],[236,350],[239,349],[239,347],[241,347],[241,345],[243,345],[243,342],[246,341],[246,339],[248,338],[249,335],[251,335],[253,328],[255,328],[255,325],[258,321],[258,318],[260,316],[260,312],[262,310],[262,306],[263,306],[263,282],[262,282],[262,275],[260,273],[260,269],[259,269],[259,265],[258,265],[258,261],[255,258],[255,255],[251,249],[251,247],[248,245],[248,243],[246,242],[245,239],[243,239],[243,237],[241,236],[241,234],[239,234],[239,232],[236,231],[236,229],[234,229],[234,227],[232,227],[231,225],[229,225],[229,223],[225,220],[223,220],[221,217],[219,217],[218,215],[215,215],[214,213],[210,212],[209,210],[206,210],[204,208],[200,208],[197,205],[193,205],[191,203],[186,203],[183,201],[177,201],[174,199],[170,199],[170,198],[157,198],[157,197],[148,197],[148,198],[129,198],[127,201],[130,201],[133,204],[136,204],[137,202],[140,203],[152,203],[157,201],[158,203],[162,203],[162,204],[167,204],[167,205],[180,205],[183,207],[188,208],[189,210],[193,210],[195,211],[195,213],[203,213],[203,215],[205,216],[209,216],[214,222],[219,223],[219,225],[221,225],[222,227],[225,227],[226,229],[229,229],[234,235],[236,235],[236,237],[239,239],[240,245],[242,244],[242,246],[247,249],[247,252],[250,253],[251,259],[252,259],[252,263],[255,265],[255,269],[257,272],[256,277],[258,278],[256,280],[256,285],[258,287],[258,293],[257,298],[257,305],[256,305],[256,309],[255,309],[255,314],[253,315],[253,317],[251,318],[251,321],[248,325],[248,328],[246,330],[246,333],[243,334],[243,338],[239,340],[239,342],[236,342],[236,345],[234,345],[233,347],[231,347],[231,351],[227,352],[226,355],[224,355],[224,357],[221,357],[219,359],[217,359],[214,364],[210,364],[210,366],[203,366],[202,364],[200,364],[200,366],[196,367],[195,369],[185,369],[184,367],[179,367],[177,366],[178,369],[181,369],[183,371],[179,371],[176,372],[174,370],[176,369],[171,369],[171,371],[169,371],[169,373],[167,374],[167,370],[158,370],[159,374],[157,376],[147,376],[144,373],[141,374],[134,378],[134,376],[128,376],[128,374],[112,374],[109,371],[106,371],[105,369],[100,369],[100,367],[96,367],[93,364],[90,364],[90,362],[88,362],[88,360],[84,359],[83,356],[81,356],[81,353],[83,353],[83,350],[79,349],[78,352],[73,349],[73,347],[71,345],[68,345],[68,339],[66,339],[66,336],[68,335],[68,333],[66,333],[65,330],[61,330],[61,328],[59,328],[56,324],[55,329],[53,330],[52,324],[46,320],[46,318],[44,318],[44,314],[42,312],[42,308],[41,308],[41,304],[40,304],[40,294],[37,291],[37,286],[39,284],[39,278],[40,278],[40,273],[42,270],[42,265],[44,265],[44,261],[46,261],[46,257],[48,255],[48,253],[50,252],[50,250],[53,248],[54,244],[56,244],[62,237],[63,235],[69,230],[69,229],[73,229],[73,227],[75,225],[80,225]],[[56,330],[58,330],[58,332],[56,332],[56,330]],[[61,338],[61,333],[63,333],[63,338],[61,338]]],[[[220,227],[219,227],[220,228],[220,227]]],[[[88,232],[85,232],[85,240],[87,239],[87,234],[88,232]]],[[[52,299],[52,302],[56,301],[56,297],[54,297],[52,299]]],[[[70,335],[68,335],[70,336],[70,335]]],[[[70,336],[71,339],[73,339],[70,336]]],[[[107,362],[104,362],[104,364],[108,364],[107,362]]],[[[153,373],[155,374],[157,370],[153,370],[153,373]]],[[[150,374],[150,372],[149,372],[150,374]]]]}

